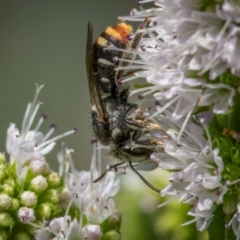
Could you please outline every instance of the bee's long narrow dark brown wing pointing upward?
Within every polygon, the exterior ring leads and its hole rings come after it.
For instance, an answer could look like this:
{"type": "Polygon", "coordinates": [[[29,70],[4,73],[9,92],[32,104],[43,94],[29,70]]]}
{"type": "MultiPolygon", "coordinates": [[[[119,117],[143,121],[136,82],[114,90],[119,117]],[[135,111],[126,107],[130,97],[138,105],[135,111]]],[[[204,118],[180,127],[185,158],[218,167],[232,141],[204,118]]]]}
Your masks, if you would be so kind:
{"type": "Polygon", "coordinates": [[[108,120],[108,114],[103,104],[101,93],[99,89],[99,83],[96,74],[93,71],[94,64],[94,49],[93,49],[93,27],[91,23],[88,23],[88,36],[87,36],[87,49],[86,49],[86,67],[88,77],[88,87],[92,106],[95,105],[98,113],[99,120],[106,122],[108,120]]]}

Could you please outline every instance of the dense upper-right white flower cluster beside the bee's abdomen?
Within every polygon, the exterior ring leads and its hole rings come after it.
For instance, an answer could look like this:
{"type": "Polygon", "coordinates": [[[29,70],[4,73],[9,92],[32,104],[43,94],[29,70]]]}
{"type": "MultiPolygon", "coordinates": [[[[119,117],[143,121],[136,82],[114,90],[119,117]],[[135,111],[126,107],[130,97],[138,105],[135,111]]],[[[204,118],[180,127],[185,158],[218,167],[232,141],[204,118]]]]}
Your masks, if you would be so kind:
{"type": "Polygon", "coordinates": [[[226,1],[215,12],[203,12],[199,0],[154,2],[156,8],[134,10],[121,19],[150,19],[150,27],[143,30],[148,37],[142,40],[141,60],[135,63],[142,69],[136,75],[146,78],[155,91],[158,87],[155,98],[168,101],[156,115],[172,104],[175,119],[209,105],[216,114],[226,113],[233,105],[235,89],[214,80],[227,70],[240,75],[239,3],[226,1]],[[201,76],[208,71],[210,80],[206,82],[201,76]]]}

